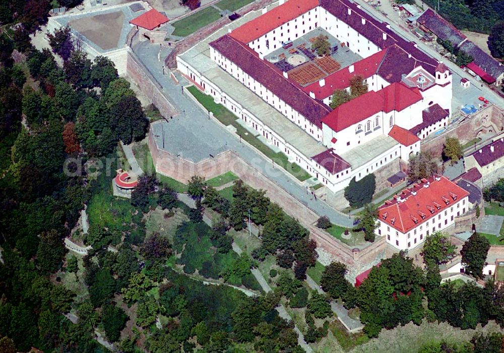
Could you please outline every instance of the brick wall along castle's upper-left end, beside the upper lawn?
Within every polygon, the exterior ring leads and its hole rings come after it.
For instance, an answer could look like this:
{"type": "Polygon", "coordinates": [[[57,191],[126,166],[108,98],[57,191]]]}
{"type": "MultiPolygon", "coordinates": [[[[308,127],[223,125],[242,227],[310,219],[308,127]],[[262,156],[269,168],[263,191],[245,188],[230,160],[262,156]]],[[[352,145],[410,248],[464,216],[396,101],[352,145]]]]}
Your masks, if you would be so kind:
{"type": "MultiPolygon", "coordinates": [[[[244,14],[250,12],[250,11],[257,11],[260,10],[271,3],[273,3],[274,0],[259,0],[256,2],[253,2],[251,4],[248,4],[238,11],[236,11],[237,14],[240,14],[243,16],[244,14]]],[[[210,36],[212,33],[215,31],[221,29],[228,23],[231,23],[231,20],[227,17],[223,17],[220,20],[217,20],[200,30],[188,35],[185,37],[183,40],[178,41],[174,44],[173,51],[168,54],[168,56],[165,58],[164,63],[165,66],[169,68],[176,68],[177,67],[177,62],[176,62],[176,57],[178,54],[184,52],[185,50],[191,48],[192,46],[198,44],[201,42],[203,39],[207,38],[210,36]]]]}

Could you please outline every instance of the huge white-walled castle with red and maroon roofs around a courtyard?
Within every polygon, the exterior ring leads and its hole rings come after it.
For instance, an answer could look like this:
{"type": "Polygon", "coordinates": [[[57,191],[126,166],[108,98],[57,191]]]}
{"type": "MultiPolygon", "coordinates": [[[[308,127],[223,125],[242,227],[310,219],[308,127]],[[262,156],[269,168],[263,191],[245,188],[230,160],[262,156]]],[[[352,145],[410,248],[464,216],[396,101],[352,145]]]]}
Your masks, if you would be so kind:
{"type": "Polygon", "coordinates": [[[348,0],[280,1],[222,32],[178,55],[180,72],[333,192],[448,124],[448,67],[348,0]],[[321,34],[323,57],[305,43],[321,34]],[[331,109],[356,76],[368,92],[331,109]]]}

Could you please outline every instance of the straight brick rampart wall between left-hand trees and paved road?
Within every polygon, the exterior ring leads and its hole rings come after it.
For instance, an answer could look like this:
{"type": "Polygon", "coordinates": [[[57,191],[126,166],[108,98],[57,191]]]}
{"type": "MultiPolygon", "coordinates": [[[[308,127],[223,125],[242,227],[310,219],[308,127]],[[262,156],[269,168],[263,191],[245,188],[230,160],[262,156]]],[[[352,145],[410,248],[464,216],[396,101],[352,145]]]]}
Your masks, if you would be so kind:
{"type": "Polygon", "coordinates": [[[128,76],[140,87],[149,101],[159,109],[162,116],[168,118],[178,114],[168,97],[161,91],[161,85],[131,50],[128,51],[126,67],[128,76]]]}

